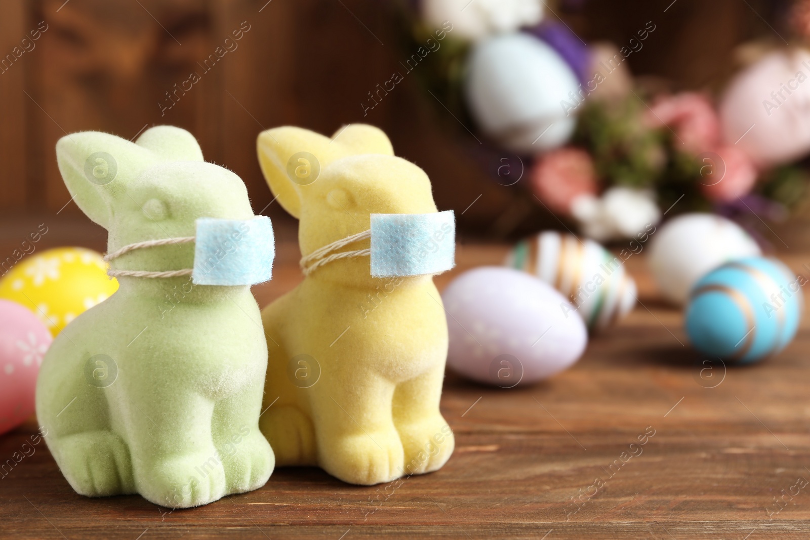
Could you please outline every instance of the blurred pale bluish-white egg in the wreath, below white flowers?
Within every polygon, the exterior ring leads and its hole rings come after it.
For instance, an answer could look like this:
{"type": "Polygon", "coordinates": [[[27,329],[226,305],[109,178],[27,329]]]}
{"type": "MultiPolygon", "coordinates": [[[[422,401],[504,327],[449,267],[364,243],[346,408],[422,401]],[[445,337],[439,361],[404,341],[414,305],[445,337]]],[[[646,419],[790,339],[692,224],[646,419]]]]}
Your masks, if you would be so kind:
{"type": "Polygon", "coordinates": [[[577,76],[543,41],[519,33],[492,37],[475,45],[468,68],[471,113],[508,150],[536,154],[573,134],[577,76]]]}

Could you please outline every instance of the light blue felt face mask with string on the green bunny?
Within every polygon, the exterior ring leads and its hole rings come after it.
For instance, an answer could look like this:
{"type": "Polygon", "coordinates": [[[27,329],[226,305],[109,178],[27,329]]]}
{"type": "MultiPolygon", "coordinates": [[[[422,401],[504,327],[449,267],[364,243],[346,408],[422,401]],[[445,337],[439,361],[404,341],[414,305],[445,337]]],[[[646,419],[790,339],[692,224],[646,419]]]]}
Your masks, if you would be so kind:
{"type": "Polygon", "coordinates": [[[194,285],[254,285],[272,279],[275,239],[270,218],[200,218],[194,236],[146,240],[125,245],[104,256],[105,261],[156,245],[194,242],[194,268],[153,272],[108,270],[113,277],[175,278],[190,275],[194,285]]]}

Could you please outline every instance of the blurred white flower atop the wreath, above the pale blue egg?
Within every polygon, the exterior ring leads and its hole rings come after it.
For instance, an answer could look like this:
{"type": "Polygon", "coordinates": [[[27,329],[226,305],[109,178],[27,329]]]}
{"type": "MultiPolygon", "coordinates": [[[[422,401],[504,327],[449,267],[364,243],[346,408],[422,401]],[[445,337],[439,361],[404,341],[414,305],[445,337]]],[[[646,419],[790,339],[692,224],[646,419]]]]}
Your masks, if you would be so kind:
{"type": "Polygon", "coordinates": [[[543,6],[543,0],[423,0],[422,16],[433,28],[452,28],[454,36],[480,40],[534,26],[543,19],[543,6]]]}

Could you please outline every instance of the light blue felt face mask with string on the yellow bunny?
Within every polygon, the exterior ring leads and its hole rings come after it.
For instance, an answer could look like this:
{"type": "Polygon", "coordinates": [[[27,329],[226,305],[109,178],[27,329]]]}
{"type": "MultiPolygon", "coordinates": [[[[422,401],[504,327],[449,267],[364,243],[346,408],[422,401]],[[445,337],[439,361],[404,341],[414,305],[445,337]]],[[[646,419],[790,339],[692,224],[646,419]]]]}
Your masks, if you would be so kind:
{"type": "Polygon", "coordinates": [[[301,258],[309,275],[319,266],[345,257],[371,257],[375,278],[441,274],[455,266],[453,210],[430,214],[372,214],[369,230],[327,244],[301,258]],[[347,244],[371,239],[369,249],[338,251],[347,244]]]}

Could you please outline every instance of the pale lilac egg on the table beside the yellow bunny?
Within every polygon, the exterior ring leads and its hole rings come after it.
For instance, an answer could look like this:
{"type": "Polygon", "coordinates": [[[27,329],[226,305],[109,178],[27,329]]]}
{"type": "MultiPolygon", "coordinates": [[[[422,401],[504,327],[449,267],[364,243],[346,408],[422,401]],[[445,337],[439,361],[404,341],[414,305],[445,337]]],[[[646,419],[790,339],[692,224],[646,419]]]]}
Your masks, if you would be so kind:
{"type": "Polygon", "coordinates": [[[569,368],[585,351],[582,317],[559,292],[520,270],[483,266],[442,292],[454,371],[511,388],[569,368]]]}

